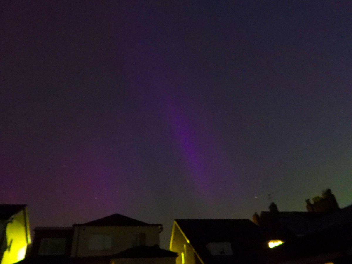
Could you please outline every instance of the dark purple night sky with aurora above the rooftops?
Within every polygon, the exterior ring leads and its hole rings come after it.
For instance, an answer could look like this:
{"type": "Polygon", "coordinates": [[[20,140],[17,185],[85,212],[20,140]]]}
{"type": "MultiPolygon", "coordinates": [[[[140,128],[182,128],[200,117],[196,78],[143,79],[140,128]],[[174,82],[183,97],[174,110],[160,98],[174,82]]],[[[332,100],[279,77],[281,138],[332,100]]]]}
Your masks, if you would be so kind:
{"type": "Polygon", "coordinates": [[[31,227],[352,203],[352,1],[0,1],[0,202],[31,227]]]}

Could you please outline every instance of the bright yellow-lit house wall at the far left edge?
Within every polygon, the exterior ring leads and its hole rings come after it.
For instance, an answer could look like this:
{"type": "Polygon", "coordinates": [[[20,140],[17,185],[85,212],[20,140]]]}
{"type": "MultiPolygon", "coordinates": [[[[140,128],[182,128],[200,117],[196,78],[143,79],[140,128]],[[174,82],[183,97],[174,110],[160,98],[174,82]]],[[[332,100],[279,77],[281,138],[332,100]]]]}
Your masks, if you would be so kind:
{"type": "Polygon", "coordinates": [[[26,216],[24,210],[21,210],[14,215],[12,222],[2,225],[6,225],[6,236],[2,242],[5,251],[2,255],[1,264],[12,264],[24,259],[27,245],[30,243],[29,228],[26,230],[26,227],[29,227],[29,225],[26,225],[28,214],[26,216]]]}

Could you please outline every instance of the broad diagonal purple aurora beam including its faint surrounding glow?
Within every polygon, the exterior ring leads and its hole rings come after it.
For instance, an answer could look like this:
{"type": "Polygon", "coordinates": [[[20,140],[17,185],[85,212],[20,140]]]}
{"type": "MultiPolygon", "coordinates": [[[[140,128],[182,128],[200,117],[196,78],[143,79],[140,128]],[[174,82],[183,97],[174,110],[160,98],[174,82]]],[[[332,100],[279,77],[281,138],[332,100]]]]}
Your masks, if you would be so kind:
{"type": "MultiPolygon", "coordinates": [[[[125,52],[122,61],[131,94],[143,109],[141,117],[145,113],[156,114],[169,127],[172,138],[168,140],[178,146],[176,151],[170,151],[178,153],[193,183],[192,189],[202,197],[218,194],[219,189],[228,185],[228,177],[235,176],[234,165],[216,140],[219,135],[212,131],[202,109],[187,102],[186,93],[176,93],[184,89],[179,87],[182,85],[178,82],[180,73],[170,71],[172,62],[162,56],[153,42],[149,43],[146,32],[141,32],[133,24],[129,26],[130,31],[135,33],[125,40],[130,42],[133,52],[125,52]]],[[[148,126],[146,124],[145,133],[152,134],[152,128],[148,126]]]]}

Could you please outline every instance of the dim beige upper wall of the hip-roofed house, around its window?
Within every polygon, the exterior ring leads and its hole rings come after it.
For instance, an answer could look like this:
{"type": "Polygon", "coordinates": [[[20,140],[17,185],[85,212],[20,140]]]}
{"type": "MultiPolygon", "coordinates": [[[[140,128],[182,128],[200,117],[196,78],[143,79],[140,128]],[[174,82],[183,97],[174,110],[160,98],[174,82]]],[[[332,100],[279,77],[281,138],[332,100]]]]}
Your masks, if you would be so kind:
{"type": "Polygon", "coordinates": [[[159,245],[158,226],[75,226],[72,243],[72,257],[109,256],[132,247],[135,235],[146,233],[146,246],[159,245]],[[112,236],[110,250],[89,250],[90,235],[112,236]],[[79,237],[78,237],[79,236],[79,237]],[[77,248],[78,240],[78,248],[77,248]]]}

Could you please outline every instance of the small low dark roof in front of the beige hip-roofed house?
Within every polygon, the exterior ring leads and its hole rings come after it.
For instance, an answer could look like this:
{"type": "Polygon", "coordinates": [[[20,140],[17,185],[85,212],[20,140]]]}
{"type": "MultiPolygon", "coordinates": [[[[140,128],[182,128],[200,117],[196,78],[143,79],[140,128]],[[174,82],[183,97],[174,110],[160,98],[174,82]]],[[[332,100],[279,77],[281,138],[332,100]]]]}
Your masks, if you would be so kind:
{"type": "Polygon", "coordinates": [[[177,257],[176,252],[165,249],[159,249],[155,246],[135,246],[131,249],[121,251],[112,256],[112,258],[166,258],[177,257]]]}

